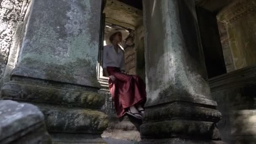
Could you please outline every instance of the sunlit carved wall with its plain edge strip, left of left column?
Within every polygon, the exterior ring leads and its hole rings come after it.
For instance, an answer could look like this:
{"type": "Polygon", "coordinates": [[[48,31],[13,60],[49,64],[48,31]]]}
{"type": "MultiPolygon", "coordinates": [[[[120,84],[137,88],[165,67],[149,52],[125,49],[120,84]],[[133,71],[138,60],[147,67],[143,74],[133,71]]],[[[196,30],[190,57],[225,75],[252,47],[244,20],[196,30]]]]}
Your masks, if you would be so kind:
{"type": "Polygon", "coordinates": [[[3,84],[10,52],[8,68],[14,67],[16,63],[16,51],[19,47],[21,29],[29,3],[30,0],[1,0],[0,2],[0,85],[3,84]]]}

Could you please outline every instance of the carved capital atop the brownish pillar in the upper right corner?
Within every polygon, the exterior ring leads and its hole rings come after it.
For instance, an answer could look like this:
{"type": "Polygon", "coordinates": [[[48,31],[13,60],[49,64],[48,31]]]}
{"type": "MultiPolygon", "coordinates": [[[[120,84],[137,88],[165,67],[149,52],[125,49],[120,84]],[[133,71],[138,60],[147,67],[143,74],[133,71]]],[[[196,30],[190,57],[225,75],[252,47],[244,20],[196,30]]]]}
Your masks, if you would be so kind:
{"type": "Polygon", "coordinates": [[[230,24],[240,18],[256,13],[256,3],[251,0],[238,0],[217,15],[217,19],[224,24],[230,24]]]}

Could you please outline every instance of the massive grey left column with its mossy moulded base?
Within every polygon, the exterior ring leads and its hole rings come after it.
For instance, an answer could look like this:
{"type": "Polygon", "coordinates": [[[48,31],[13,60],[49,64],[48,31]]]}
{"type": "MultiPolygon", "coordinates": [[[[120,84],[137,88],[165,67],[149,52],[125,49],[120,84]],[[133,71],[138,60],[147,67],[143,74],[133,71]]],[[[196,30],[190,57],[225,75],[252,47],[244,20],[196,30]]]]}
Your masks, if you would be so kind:
{"type": "Polygon", "coordinates": [[[107,115],[98,93],[101,0],[33,0],[3,99],[37,105],[56,142],[103,142],[107,115]]]}

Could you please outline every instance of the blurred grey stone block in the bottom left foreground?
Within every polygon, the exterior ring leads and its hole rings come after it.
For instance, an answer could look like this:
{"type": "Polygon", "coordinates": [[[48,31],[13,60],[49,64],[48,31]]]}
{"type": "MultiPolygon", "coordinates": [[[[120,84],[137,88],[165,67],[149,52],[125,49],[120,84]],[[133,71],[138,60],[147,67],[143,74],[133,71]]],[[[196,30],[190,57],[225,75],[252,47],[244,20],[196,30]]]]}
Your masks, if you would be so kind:
{"type": "Polygon", "coordinates": [[[32,104],[0,101],[1,144],[51,144],[44,116],[32,104]]]}

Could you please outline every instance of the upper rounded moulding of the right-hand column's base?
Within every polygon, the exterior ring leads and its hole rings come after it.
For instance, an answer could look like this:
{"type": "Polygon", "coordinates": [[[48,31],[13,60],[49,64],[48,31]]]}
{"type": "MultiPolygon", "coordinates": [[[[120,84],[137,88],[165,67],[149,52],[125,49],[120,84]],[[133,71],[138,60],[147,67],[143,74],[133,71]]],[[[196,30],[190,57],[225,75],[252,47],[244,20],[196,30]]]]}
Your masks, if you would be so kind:
{"type": "Polygon", "coordinates": [[[189,104],[175,102],[161,107],[148,107],[143,116],[143,122],[154,122],[163,120],[194,119],[211,122],[219,122],[222,115],[216,109],[197,107],[189,104]]]}

